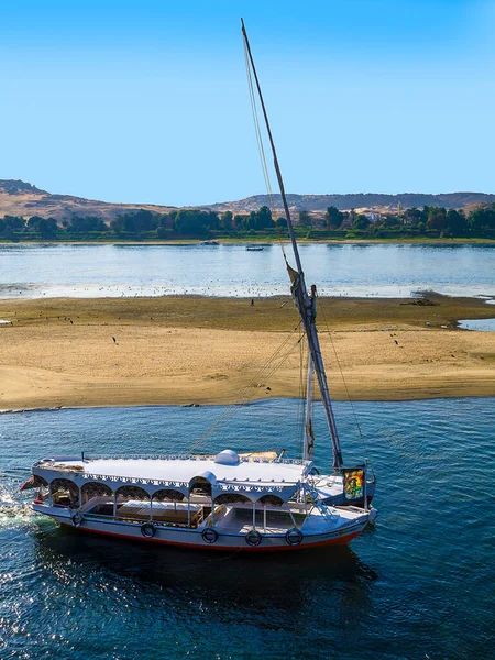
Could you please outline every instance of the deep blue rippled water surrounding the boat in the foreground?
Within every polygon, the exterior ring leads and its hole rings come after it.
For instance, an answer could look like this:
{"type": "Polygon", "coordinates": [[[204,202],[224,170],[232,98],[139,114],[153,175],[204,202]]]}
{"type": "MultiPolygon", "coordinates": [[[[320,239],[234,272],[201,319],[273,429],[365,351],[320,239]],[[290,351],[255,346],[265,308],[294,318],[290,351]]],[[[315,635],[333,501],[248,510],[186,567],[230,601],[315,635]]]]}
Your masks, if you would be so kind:
{"type": "MultiPolygon", "coordinates": [[[[0,416],[0,658],[495,658],[495,399],[336,405],[378,524],[348,548],[218,556],[63,530],[18,485],[51,453],[179,452],[224,411],[0,416]]],[[[205,450],[300,449],[299,404],[249,405],[205,450]]],[[[324,437],[317,406],[317,435],[324,437]]],[[[317,463],[330,466],[329,442],[317,463]]]]}

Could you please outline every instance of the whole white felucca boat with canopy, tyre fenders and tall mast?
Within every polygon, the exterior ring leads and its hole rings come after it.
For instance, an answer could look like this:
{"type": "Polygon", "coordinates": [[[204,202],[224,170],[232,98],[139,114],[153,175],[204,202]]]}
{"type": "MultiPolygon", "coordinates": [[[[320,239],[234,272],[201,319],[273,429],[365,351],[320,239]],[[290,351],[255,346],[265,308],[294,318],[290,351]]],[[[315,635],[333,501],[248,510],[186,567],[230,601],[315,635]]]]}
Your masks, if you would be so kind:
{"type": "Polygon", "coordinates": [[[376,519],[371,506],[375,480],[369,476],[367,463],[343,463],[316,327],[317,290],[315,285],[310,293],[306,287],[244,23],[242,33],[274,155],[296,260],[296,268],[287,257],[286,265],[310,355],[304,455],[287,459],[222,449],[210,454],[81,452],[41,459],[22,490],[35,490],[36,513],[79,531],[206,550],[267,552],[345,544],[376,519]],[[314,376],[332,446],[331,474],[319,474],[314,461],[314,376]]]}

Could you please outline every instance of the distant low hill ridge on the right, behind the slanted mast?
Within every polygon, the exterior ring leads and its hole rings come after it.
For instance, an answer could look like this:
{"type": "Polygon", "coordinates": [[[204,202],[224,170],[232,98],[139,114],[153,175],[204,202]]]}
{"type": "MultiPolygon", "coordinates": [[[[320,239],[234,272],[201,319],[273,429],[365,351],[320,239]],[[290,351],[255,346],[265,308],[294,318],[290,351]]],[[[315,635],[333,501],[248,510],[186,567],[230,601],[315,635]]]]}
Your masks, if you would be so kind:
{"type": "MultiPolygon", "coordinates": [[[[279,195],[274,195],[274,202],[282,208],[279,195]]],[[[446,193],[441,195],[427,195],[421,193],[402,193],[399,195],[383,195],[380,193],[359,193],[351,195],[287,195],[290,208],[296,211],[324,211],[329,206],[339,210],[361,208],[403,208],[440,206],[449,209],[463,208],[468,205],[480,205],[495,201],[495,195],[486,193],[446,193]]],[[[230,210],[234,213],[245,213],[257,210],[261,206],[270,206],[267,195],[253,195],[239,201],[224,201],[212,204],[208,207],[215,211],[230,210]]]]}

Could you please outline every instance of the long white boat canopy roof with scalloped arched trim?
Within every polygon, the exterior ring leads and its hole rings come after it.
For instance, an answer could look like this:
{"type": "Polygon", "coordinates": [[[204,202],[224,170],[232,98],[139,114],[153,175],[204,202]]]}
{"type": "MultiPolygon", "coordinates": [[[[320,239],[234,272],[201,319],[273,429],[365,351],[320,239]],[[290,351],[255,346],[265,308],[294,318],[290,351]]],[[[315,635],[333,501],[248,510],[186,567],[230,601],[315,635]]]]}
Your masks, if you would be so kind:
{"type": "Polygon", "coordinates": [[[217,455],[54,457],[33,465],[33,474],[48,483],[61,477],[70,480],[79,488],[98,482],[113,493],[135,485],[151,496],[164,488],[189,496],[202,483],[213,499],[237,494],[257,502],[275,495],[287,502],[299,491],[311,468],[311,461],[240,457],[224,450],[217,455]]]}

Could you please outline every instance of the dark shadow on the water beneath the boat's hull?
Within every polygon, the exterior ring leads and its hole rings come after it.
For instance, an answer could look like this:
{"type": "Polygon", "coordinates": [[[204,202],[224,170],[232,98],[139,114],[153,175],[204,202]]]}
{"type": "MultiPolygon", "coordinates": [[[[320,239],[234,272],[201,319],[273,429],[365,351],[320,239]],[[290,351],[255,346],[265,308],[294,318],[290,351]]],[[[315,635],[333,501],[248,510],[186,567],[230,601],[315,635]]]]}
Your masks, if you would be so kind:
{"type": "Polygon", "coordinates": [[[153,587],[155,595],[166,591],[167,597],[174,594],[178,600],[187,594],[232,610],[256,601],[261,609],[288,613],[321,592],[330,601],[362,607],[378,578],[345,546],[255,556],[108,539],[51,526],[35,535],[35,553],[48,571],[65,566],[78,574],[105,573],[106,580],[130,580],[146,593],[153,587]]]}

